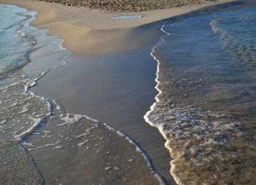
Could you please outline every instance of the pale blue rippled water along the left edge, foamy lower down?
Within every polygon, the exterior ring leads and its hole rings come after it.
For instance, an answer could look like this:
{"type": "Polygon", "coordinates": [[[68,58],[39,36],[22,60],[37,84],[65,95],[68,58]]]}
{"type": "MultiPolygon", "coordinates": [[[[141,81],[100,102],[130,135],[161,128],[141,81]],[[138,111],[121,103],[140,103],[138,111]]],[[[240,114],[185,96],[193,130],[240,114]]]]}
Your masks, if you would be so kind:
{"type": "Polygon", "coordinates": [[[41,184],[20,142],[52,115],[53,104],[29,91],[47,72],[65,65],[70,51],[57,36],[29,23],[36,12],[0,4],[0,182],[41,184]]]}

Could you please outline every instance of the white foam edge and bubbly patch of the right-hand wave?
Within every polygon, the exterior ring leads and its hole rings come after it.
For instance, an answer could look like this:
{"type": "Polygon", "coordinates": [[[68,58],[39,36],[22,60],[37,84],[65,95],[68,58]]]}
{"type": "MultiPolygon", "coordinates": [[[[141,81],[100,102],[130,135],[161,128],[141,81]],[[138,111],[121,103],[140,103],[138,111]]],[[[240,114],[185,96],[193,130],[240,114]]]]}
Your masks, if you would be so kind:
{"type": "MultiPolygon", "coordinates": [[[[163,30],[165,25],[161,28],[161,30],[166,33],[166,35],[170,35],[167,31],[163,30]]],[[[164,41],[163,36],[160,37],[162,43],[164,41]]],[[[159,44],[157,46],[159,46],[159,44]]],[[[232,123],[230,120],[225,120],[225,115],[218,113],[218,112],[210,112],[207,110],[203,110],[200,107],[196,107],[194,109],[189,107],[184,107],[184,109],[171,109],[172,107],[175,107],[173,105],[170,105],[170,107],[163,107],[160,106],[163,103],[160,101],[159,97],[162,97],[162,91],[159,88],[160,87],[160,81],[159,81],[159,75],[160,75],[160,61],[157,60],[157,58],[154,56],[155,46],[152,49],[151,55],[152,57],[157,61],[157,73],[156,73],[156,79],[157,85],[155,86],[155,89],[159,92],[157,96],[155,96],[155,102],[153,105],[151,105],[150,110],[144,115],[144,119],[149,123],[151,126],[155,126],[159,129],[160,133],[162,134],[163,138],[165,138],[165,147],[169,150],[170,154],[174,154],[175,149],[171,149],[171,145],[173,146],[173,142],[175,142],[175,139],[183,140],[189,136],[191,136],[192,139],[195,139],[196,142],[200,143],[200,146],[204,146],[205,149],[210,149],[211,146],[221,145],[224,144],[224,142],[220,142],[218,140],[218,131],[220,131],[220,137],[221,132],[229,130],[232,130],[231,132],[239,133],[237,130],[237,123],[232,123]],[[186,108],[186,109],[185,109],[186,108]],[[157,114],[155,114],[157,112],[157,114]],[[195,118],[193,118],[193,116],[195,118]],[[209,121],[208,119],[204,120],[205,116],[218,118],[220,121],[209,121]],[[197,118],[196,118],[197,117],[197,118]],[[188,126],[190,125],[190,126],[188,126]],[[186,129],[184,129],[186,128],[186,129]],[[207,134],[208,132],[212,131],[212,134],[207,134]],[[202,135],[202,133],[205,133],[205,135],[202,135]],[[168,137],[167,137],[168,136],[168,137]],[[209,137],[208,137],[209,136],[209,137]],[[211,138],[215,136],[215,138],[211,138]],[[175,138],[171,141],[171,137],[175,138]]],[[[214,120],[214,119],[212,119],[214,120]]],[[[230,133],[231,133],[230,132],[230,133]]],[[[223,139],[225,141],[225,139],[223,139]]],[[[178,144],[178,143],[177,143],[178,144]]],[[[179,146],[183,147],[183,146],[179,146]]],[[[189,154],[197,156],[200,155],[199,147],[194,146],[192,148],[191,143],[184,143],[184,149],[189,152],[189,154]]],[[[202,154],[203,155],[203,154],[202,154]]],[[[176,158],[177,156],[174,156],[173,160],[171,160],[171,169],[170,173],[175,179],[177,184],[184,184],[181,179],[176,175],[177,169],[179,167],[176,165],[180,158],[176,158]]],[[[200,160],[194,161],[194,166],[200,166],[203,165],[203,163],[200,160]]],[[[180,172],[179,172],[180,173],[180,172]]],[[[182,175],[182,172],[181,172],[182,175]]]]}

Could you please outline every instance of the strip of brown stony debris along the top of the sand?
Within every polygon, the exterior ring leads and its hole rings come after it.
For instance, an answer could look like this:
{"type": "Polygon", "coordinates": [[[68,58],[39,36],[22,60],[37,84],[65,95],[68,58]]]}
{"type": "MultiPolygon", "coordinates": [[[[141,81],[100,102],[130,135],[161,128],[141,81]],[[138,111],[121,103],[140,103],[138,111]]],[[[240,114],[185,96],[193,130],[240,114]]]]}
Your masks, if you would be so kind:
{"type": "Polygon", "coordinates": [[[218,0],[39,0],[56,2],[66,6],[88,7],[110,12],[141,12],[167,9],[192,4],[204,4],[218,0]]]}

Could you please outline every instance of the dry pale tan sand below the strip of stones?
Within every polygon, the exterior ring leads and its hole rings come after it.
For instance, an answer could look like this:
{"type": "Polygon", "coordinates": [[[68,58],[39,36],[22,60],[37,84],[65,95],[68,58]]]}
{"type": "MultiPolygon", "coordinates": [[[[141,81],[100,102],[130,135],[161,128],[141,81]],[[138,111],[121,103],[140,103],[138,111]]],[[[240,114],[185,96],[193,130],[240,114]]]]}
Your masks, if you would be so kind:
{"type": "MultiPolygon", "coordinates": [[[[136,27],[209,6],[204,4],[151,10],[139,13],[144,15],[141,19],[113,20],[109,18],[120,14],[42,1],[1,0],[0,2],[38,11],[37,19],[31,24],[39,29],[51,30],[49,35],[60,35],[65,40],[65,47],[72,50],[73,54],[83,56],[114,54],[148,46],[152,41],[159,39],[160,31],[136,30],[134,34],[133,30],[136,27]]],[[[228,2],[228,0],[218,2],[228,2]]],[[[127,14],[130,13],[122,15],[127,14]]]]}

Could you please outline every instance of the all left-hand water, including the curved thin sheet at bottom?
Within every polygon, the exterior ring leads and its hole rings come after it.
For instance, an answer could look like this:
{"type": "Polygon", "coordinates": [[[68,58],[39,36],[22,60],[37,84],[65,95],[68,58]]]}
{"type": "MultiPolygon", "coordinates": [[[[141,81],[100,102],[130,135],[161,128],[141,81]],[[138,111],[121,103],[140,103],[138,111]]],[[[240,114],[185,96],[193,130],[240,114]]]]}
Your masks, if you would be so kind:
{"type": "Polygon", "coordinates": [[[140,172],[147,181],[162,183],[162,177],[154,171],[147,155],[128,136],[85,115],[66,113],[60,102],[31,92],[38,80],[64,67],[71,54],[62,47],[63,41],[58,36],[47,36],[49,30],[29,25],[35,15],[36,12],[21,7],[0,4],[0,17],[6,20],[0,25],[0,163],[4,167],[0,169],[0,184],[143,181],[139,173],[134,178],[139,170],[132,158],[136,162],[141,158],[140,172]],[[117,154],[112,159],[110,153],[106,153],[110,148],[116,153],[119,149],[128,149],[130,153],[123,158],[117,154]],[[91,158],[85,160],[88,155],[91,158]],[[67,162],[71,156],[72,160],[67,162]],[[101,160],[97,160],[98,157],[101,160]],[[113,165],[122,165],[114,167],[110,160],[113,165]],[[88,165],[90,162],[94,172],[88,165]],[[101,178],[95,171],[101,171],[101,178]]]}

